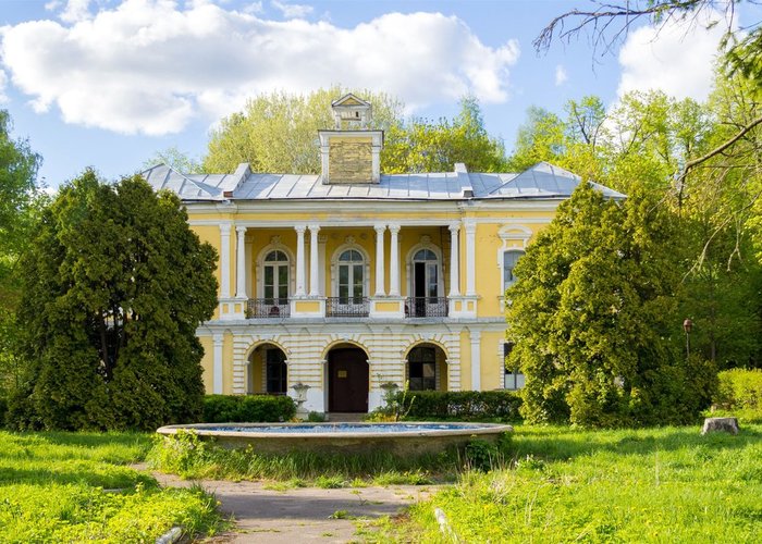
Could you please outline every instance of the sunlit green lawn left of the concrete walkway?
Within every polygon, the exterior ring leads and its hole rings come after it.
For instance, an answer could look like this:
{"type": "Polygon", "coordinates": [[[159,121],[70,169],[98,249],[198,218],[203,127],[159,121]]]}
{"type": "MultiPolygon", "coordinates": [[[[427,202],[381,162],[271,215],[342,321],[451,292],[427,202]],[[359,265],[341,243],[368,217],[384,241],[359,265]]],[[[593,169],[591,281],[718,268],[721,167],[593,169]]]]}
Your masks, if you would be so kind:
{"type": "Polygon", "coordinates": [[[161,490],[126,465],[148,435],[0,431],[0,542],[153,542],[174,526],[213,533],[202,490],[161,490]]]}

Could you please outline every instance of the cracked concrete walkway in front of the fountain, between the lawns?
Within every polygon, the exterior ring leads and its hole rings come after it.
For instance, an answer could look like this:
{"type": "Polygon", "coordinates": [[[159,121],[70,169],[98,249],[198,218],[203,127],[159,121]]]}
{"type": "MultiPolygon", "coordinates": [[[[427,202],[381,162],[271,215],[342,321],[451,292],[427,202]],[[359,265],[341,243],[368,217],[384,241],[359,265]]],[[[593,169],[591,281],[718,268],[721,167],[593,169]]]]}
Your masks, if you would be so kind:
{"type": "Polygon", "coordinates": [[[390,485],[274,491],[265,489],[260,482],[188,481],[159,472],[152,475],[163,486],[199,483],[217,496],[222,505],[220,509],[234,518],[235,529],[211,539],[212,542],[361,542],[365,539],[355,535],[360,520],[394,515],[405,506],[428,498],[438,489],[390,485]],[[337,517],[344,519],[335,519],[337,517]]]}

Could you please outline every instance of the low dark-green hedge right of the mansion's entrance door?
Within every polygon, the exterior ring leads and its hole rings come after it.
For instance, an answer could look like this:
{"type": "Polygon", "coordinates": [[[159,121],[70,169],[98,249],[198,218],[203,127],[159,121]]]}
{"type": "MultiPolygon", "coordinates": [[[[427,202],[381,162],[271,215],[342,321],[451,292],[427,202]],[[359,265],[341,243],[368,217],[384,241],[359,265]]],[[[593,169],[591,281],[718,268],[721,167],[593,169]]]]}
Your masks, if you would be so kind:
{"type": "Polygon", "coordinates": [[[521,399],[509,391],[408,391],[395,393],[394,401],[407,419],[521,419],[521,399]]]}

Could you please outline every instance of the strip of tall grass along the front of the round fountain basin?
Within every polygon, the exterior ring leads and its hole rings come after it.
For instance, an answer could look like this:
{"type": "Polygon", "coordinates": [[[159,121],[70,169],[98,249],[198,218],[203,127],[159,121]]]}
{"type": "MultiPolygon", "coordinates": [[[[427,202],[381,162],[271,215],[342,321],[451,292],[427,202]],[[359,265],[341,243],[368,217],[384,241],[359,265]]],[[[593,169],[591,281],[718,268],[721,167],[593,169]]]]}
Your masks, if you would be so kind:
{"type": "Polygon", "coordinates": [[[457,455],[452,453],[406,458],[385,452],[273,456],[258,454],[251,447],[226,449],[193,433],[157,438],[148,460],[158,470],[186,479],[269,480],[285,485],[299,482],[322,489],[454,481],[459,467],[457,455]]]}

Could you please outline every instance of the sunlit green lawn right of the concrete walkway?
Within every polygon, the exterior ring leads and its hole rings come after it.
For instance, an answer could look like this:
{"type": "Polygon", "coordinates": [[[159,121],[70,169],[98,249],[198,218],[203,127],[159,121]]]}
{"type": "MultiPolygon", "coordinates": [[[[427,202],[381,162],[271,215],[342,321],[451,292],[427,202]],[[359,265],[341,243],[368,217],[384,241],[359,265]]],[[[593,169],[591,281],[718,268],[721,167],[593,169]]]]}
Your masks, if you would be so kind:
{"type": "MultiPolygon", "coordinates": [[[[761,542],[762,425],[580,431],[517,426],[511,456],[386,524],[386,539],[452,542],[761,542]]],[[[382,528],[383,529],[383,528],[382,528]]]]}

